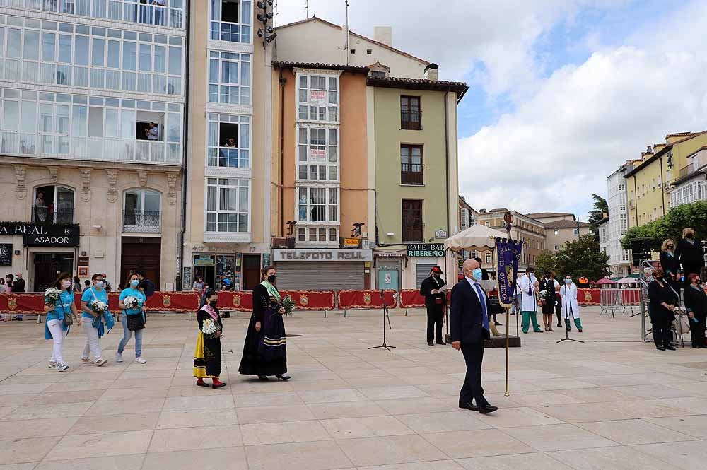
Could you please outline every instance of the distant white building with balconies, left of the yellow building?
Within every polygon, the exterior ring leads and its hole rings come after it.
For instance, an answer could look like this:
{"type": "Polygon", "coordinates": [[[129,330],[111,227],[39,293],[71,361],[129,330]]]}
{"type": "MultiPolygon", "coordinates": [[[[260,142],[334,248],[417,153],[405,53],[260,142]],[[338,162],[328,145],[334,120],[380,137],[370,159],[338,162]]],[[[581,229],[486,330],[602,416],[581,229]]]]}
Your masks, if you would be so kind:
{"type": "Polygon", "coordinates": [[[609,206],[609,221],[600,228],[600,245],[609,256],[614,277],[624,277],[631,274],[631,250],[621,247],[621,239],[629,230],[629,213],[626,205],[626,180],[624,175],[633,168],[631,161],[621,165],[607,177],[607,205],[609,206]],[[601,231],[604,232],[602,236],[601,231]]]}

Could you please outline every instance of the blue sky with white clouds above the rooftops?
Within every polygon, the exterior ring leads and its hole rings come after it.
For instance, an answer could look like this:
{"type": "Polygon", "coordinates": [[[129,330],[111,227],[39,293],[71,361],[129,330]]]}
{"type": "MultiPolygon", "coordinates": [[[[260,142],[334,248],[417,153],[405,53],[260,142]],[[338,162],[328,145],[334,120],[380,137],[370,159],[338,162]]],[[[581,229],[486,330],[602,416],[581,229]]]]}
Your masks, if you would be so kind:
{"type": "MultiPolygon", "coordinates": [[[[346,23],[344,0],[310,16],[346,23]]],[[[276,24],[305,18],[278,0],[276,24]]],[[[707,1],[349,0],[349,25],[440,64],[457,108],[460,194],[477,210],[571,212],[665,135],[707,129],[707,1]]]]}

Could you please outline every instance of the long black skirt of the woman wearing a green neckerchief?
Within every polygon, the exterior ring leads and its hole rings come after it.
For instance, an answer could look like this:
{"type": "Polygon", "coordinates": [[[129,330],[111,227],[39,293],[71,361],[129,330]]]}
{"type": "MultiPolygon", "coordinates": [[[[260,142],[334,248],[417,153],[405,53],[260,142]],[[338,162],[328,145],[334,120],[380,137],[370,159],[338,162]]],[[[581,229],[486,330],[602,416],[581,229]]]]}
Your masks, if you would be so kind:
{"type": "Polygon", "coordinates": [[[250,317],[238,372],[243,375],[281,375],[287,372],[285,324],[282,315],[265,309],[260,331],[255,331],[255,317],[250,317]]]}

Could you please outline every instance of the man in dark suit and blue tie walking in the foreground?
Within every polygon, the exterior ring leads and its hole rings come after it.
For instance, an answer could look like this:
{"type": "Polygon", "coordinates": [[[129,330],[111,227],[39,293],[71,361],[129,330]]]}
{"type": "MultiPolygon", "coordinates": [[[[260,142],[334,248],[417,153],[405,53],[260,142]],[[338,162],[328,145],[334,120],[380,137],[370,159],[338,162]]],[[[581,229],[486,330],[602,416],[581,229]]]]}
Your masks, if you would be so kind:
{"type": "Polygon", "coordinates": [[[489,315],[486,294],[481,281],[481,267],[476,259],[464,262],[464,278],[452,288],[450,333],[452,348],[462,350],[467,363],[467,376],[459,392],[459,407],[479,413],[498,409],[484,398],[481,387],[481,362],[484,360],[484,339],[489,339],[489,315]],[[476,403],[472,403],[472,400],[476,403]]]}

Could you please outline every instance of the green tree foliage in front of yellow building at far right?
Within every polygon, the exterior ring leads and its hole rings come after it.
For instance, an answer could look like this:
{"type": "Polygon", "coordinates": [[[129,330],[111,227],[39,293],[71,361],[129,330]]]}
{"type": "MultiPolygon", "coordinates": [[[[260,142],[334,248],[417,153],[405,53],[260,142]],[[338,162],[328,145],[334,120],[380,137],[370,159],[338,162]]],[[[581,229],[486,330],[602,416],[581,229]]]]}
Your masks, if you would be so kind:
{"type": "Polygon", "coordinates": [[[704,240],[707,237],[707,201],[682,204],[667,211],[665,216],[655,219],[640,227],[631,227],[621,240],[624,249],[631,249],[633,242],[645,240],[654,251],[660,250],[663,240],[682,238],[682,229],[695,229],[695,237],[704,240]]]}

